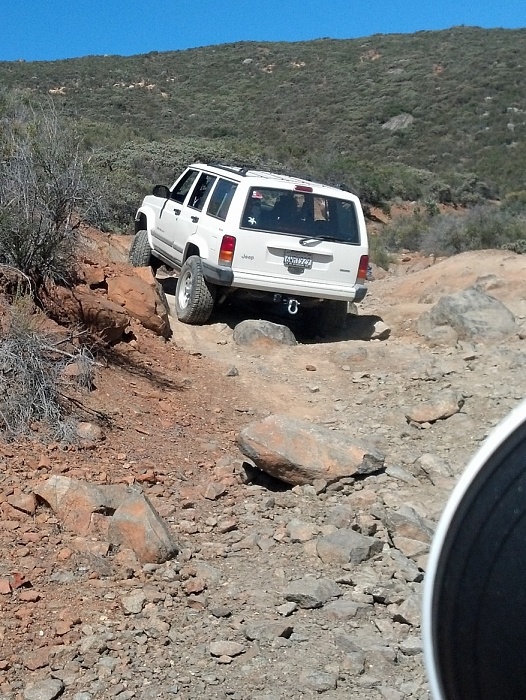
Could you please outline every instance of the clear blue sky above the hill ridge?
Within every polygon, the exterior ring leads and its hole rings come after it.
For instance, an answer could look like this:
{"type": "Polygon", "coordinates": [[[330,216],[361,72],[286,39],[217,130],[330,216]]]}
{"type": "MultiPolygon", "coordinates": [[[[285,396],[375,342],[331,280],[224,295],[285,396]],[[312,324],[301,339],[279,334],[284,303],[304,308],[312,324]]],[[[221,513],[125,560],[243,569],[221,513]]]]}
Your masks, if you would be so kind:
{"type": "Polygon", "coordinates": [[[526,27],[526,0],[0,0],[0,60],[133,55],[233,41],[526,27]]]}

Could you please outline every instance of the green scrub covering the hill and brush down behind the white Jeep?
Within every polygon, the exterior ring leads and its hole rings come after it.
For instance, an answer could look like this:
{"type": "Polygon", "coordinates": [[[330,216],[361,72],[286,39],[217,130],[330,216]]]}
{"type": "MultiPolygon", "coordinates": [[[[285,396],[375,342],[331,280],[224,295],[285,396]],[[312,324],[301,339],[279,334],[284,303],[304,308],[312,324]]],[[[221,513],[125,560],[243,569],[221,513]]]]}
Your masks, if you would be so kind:
{"type": "Polygon", "coordinates": [[[524,65],[526,29],[454,27],[4,62],[0,80],[74,123],[104,188],[90,221],[106,229],[131,230],[152,184],[188,162],[230,161],[344,184],[386,211],[416,201],[382,247],[455,252],[525,237],[524,65]],[[446,221],[439,205],[478,209],[446,221]]]}

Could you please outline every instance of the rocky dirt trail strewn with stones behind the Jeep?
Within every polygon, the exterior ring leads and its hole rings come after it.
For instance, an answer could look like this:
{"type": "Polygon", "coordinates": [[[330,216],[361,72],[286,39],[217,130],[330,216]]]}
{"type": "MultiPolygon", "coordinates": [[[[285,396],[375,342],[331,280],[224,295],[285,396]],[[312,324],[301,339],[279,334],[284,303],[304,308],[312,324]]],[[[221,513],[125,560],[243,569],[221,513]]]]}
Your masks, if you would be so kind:
{"type": "Polygon", "coordinates": [[[80,446],[0,445],[2,700],[428,698],[427,553],[526,395],[526,259],[401,262],[338,338],[240,313],[118,344],[80,446]]]}

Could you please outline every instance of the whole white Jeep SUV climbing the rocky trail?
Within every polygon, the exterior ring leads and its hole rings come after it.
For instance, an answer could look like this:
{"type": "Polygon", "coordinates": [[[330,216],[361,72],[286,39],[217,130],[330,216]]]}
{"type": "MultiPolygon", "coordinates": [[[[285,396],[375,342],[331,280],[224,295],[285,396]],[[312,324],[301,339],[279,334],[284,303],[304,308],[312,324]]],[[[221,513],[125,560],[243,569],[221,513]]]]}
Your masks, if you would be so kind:
{"type": "Polygon", "coordinates": [[[300,178],[223,165],[190,165],[156,185],[135,216],[130,262],[179,275],[177,316],[208,321],[231,294],[285,305],[320,334],[363,299],[368,268],[359,199],[300,178]]]}

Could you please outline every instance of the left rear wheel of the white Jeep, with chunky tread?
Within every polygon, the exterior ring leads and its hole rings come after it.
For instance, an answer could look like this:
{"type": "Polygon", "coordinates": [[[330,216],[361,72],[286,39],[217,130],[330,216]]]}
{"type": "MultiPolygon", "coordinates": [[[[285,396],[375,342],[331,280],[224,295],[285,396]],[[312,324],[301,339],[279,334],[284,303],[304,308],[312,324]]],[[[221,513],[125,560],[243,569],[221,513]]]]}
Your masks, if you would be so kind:
{"type": "Polygon", "coordinates": [[[214,308],[216,288],[203,276],[201,258],[192,255],[179,273],[175,289],[175,310],[183,323],[195,326],[208,321],[214,308]]]}

